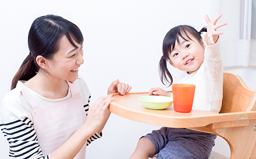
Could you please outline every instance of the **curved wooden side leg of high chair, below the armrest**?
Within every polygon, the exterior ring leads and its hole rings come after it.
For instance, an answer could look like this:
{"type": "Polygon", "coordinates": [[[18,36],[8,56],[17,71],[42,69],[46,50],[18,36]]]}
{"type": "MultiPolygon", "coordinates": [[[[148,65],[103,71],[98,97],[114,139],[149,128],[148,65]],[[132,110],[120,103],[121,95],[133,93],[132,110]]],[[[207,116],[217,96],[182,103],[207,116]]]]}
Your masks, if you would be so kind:
{"type": "Polygon", "coordinates": [[[218,128],[213,131],[215,134],[223,137],[229,144],[231,151],[230,159],[250,159],[256,143],[255,126],[256,120],[250,120],[248,126],[218,128]]]}

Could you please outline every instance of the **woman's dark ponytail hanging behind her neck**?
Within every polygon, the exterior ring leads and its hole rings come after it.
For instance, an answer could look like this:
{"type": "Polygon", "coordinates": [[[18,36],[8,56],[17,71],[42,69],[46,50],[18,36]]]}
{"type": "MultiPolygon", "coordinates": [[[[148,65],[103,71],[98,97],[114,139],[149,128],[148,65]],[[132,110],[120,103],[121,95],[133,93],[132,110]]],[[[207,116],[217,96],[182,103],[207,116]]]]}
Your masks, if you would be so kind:
{"type": "Polygon", "coordinates": [[[34,63],[34,59],[30,53],[27,56],[27,58],[23,61],[23,63],[21,64],[18,72],[13,77],[12,84],[11,84],[11,90],[16,88],[17,82],[19,80],[28,81],[29,79],[31,79],[33,76],[36,75],[36,72],[38,72],[38,67],[34,63]]]}

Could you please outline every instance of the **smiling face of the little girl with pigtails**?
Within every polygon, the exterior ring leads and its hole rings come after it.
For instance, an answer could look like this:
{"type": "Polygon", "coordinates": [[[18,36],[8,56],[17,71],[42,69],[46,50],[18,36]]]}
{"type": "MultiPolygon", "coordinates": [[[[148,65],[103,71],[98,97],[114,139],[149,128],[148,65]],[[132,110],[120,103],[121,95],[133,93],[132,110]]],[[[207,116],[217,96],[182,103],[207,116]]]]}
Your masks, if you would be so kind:
{"type": "Polygon", "coordinates": [[[192,73],[196,71],[204,60],[203,46],[189,33],[192,40],[185,40],[179,37],[180,44],[177,40],[174,49],[169,53],[170,64],[179,70],[192,73]]]}

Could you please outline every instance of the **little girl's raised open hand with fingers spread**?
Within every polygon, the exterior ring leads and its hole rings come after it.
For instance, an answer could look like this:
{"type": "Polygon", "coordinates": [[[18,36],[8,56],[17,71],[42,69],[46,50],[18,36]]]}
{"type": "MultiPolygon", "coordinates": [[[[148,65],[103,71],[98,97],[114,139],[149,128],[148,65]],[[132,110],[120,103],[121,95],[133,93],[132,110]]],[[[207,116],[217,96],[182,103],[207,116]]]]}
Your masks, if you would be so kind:
{"type": "Polygon", "coordinates": [[[220,23],[217,24],[217,21],[221,18],[222,14],[218,15],[217,17],[215,17],[213,19],[213,21],[211,22],[208,15],[205,15],[205,21],[207,22],[207,34],[208,34],[208,45],[213,45],[217,42],[219,35],[223,34],[223,32],[217,32],[216,30],[224,25],[226,25],[226,23],[220,23]]]}

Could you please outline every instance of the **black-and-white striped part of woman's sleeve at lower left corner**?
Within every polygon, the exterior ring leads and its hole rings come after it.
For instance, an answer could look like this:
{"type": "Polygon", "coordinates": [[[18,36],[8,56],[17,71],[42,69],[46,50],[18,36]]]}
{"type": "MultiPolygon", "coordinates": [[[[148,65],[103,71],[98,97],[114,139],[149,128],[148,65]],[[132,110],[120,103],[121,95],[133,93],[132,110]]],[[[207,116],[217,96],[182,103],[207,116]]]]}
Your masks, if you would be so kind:
{"type": "Polygon", "coordinates": [[[50,159],[42,154],[31,120],[16,120],[0,124],[0,129],[9,143],[10,159],[50,159]]]}

